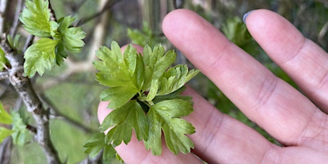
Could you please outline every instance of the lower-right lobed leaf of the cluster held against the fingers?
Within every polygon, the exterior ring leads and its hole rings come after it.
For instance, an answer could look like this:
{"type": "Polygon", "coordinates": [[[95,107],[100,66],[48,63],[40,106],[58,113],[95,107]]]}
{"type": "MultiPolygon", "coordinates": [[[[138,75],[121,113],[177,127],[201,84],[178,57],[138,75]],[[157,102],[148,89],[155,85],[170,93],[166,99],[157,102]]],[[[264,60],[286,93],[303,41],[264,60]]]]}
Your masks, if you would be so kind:
{"type": "Polygon", "coordinates": [[[149,125],[148,140],[145,147],[154,155],[160,155],[162,151],[161,130],[163,130],[165,143],[174,154],[190,153],[194,148],[193,141],[185,134],[195,133],[195,128],[182,116],[193,112],[193,103],[181,99],[161,101],[150,106],[147,118],[149,125]]]}

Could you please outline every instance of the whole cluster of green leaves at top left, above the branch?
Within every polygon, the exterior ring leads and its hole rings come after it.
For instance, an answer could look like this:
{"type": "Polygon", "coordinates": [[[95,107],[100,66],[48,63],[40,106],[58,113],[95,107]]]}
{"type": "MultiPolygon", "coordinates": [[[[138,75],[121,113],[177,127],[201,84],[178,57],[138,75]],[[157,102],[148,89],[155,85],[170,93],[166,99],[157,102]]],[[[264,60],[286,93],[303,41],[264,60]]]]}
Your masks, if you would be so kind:
{"type": "Polygon", "coordinates": [[[84,46],[82,39],[86,34],[79,27],[71,27],[75,18],[66,16],[58,21],[51,21],[48,1],[26,1],[26,8],[19,19],[24,29],[41,39],[36,41],[24,53],[24,74],[32,77],[36,72],[40,75],[56,64],[60,66],[67,51],[78,53],[84,46]]]}

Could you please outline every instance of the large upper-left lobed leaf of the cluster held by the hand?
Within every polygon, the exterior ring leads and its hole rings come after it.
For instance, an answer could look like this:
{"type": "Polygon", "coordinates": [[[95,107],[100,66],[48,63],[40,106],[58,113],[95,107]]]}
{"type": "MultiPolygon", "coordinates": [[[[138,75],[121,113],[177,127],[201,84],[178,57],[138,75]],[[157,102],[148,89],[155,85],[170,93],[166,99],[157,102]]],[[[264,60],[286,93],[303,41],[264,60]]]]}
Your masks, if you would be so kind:
{"type": "Polygon", "coordinates": [[[111,101],[108,108],[119,108],[140,91],[143,72],[142,69],[136,69],[136,63],[140,63],[140,59],[133,48],[128,47],[123,58],[118,43],[113,42],[111,47],[112,51],[104,46],[96,51],[101,61],[94,61],[93,64],[100,71],[96,74],[97,81],[110,87],[101,93],[101,100],[111,101]]]}

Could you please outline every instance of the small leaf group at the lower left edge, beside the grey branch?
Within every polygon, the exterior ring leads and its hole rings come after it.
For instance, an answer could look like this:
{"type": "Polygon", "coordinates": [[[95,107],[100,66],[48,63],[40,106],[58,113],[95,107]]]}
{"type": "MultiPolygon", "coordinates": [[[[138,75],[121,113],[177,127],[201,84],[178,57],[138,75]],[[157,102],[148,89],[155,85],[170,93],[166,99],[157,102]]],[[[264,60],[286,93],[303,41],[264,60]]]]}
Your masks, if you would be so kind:
{"type": "Polygon", "coordinates": [[[11,114],[7,113],[4,110],[4,106],[1,102],[0,123],[12,126],[11,129],[0,127],[0,143],[2,143],[5,138],[11,135],[16,145],[24,145],[26,134],[28,133],[28,130],[26,130],[25,123],[21,119],[21,116],[18,112],[11,111],[11,114]]]}

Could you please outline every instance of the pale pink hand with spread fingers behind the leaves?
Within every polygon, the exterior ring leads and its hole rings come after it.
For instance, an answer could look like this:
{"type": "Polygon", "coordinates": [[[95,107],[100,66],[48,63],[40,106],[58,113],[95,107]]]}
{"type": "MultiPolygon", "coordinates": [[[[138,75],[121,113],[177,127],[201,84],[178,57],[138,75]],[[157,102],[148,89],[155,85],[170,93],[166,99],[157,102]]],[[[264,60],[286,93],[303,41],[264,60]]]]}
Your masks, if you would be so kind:
{"type": "MultiPolygon", "coordinates": [[[[327,163],[327,52],[272,11],[252,11],[245,22],[252,37],[302,93],[192,11],[172,11],[163,21],[163,32],[250,120],[283,146],[220,113],[188,87],[184,94],[195,103],[195,111],[185,117],[196,128],[189,135],[195,143],[192,153],[173,155],[164,146],[162,155],[153,156],[133,136],[128,145],[116,147],[126,163],[202,163],[195,155],[207,163],[327,163]]],[[[100,122],[111,111],[107,105],[99,104],[100,122]]]]}

